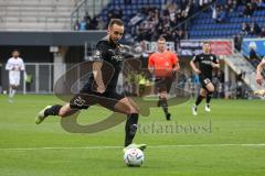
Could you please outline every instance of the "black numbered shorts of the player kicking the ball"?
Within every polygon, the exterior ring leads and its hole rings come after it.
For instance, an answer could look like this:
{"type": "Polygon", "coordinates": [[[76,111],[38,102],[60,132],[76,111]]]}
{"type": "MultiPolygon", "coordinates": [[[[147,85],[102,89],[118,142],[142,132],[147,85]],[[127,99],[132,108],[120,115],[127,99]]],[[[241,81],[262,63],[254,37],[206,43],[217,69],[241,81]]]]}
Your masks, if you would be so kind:
{"type": "Polygon", "coordinates": [[[125,95],[119,95],[116,91],[105,91],[104,94],[99,94],[87,90],[86,92],[82,91],[81,94],[75,95],[70,101],[70,107],[72,109],[87,109],[88,107],[98,103],[109,110],[114,110],[115,105],[123,98],[125,98],[125,95]]]}

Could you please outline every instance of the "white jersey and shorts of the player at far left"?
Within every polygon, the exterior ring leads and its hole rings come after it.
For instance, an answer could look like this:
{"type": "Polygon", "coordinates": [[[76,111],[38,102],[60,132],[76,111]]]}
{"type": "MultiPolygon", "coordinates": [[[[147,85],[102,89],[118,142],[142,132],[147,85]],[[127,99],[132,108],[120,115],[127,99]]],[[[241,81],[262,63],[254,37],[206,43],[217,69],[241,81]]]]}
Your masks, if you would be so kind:
{"type": "Polygon", "coordinates": [[[18,86],[20,84],[20,72],[24,70],[24,62],[22,58],[11,57],[8,59],[6,69],[9,70],[9,84],[18,86]]]}

